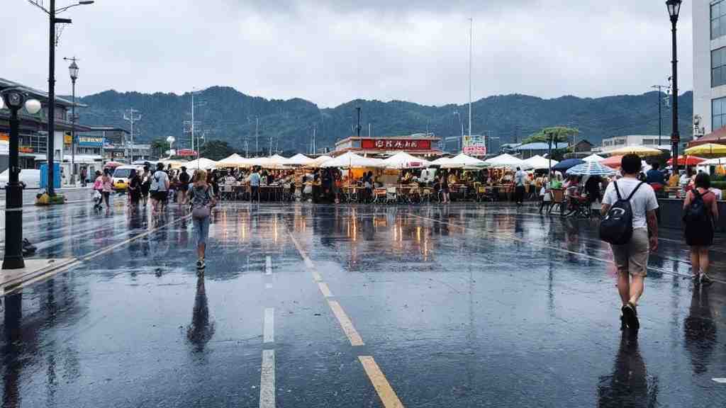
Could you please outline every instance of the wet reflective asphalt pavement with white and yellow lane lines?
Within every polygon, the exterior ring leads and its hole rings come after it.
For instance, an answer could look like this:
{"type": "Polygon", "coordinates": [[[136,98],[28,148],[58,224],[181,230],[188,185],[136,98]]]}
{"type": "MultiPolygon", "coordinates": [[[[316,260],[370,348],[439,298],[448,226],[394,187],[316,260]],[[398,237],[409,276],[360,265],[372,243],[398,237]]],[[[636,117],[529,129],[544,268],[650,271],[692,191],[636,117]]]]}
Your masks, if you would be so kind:
{"type": "Polygon", "coordinates": [[[723,237],[694,287],[661,231],[632,338],[595,224],[534,208],[224,203],[202,277],[176,206],[24,220],[93,257],[5,295],[2,407],[726,406],[723,237]]]}

